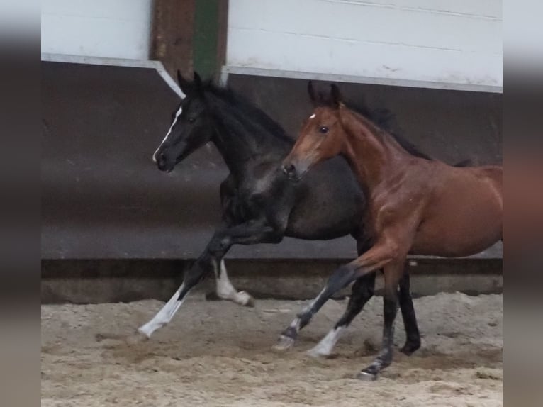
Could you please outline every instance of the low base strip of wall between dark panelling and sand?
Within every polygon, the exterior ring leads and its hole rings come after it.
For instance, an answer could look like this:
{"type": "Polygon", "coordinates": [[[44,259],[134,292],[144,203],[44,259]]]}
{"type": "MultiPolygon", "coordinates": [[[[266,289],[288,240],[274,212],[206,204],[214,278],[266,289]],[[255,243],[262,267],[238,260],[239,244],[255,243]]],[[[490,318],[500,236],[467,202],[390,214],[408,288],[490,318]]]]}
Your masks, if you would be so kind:
{"type": "MultiPolygon", "coordinates": [[[[159,299],[167,301],[179,288],[186,260],[44,260],[42,303],[111,303],[159,299]]],[[[323,289],[340,260],[227,260],[237,290],[254,298],[312,299],[323,289]]],[[[413,296],[439,292],[495,294],[503,291],[500,259],[425,259],[408,262],[413,296]]],[[[376,294],[381,294],[379,274],[376,294]]],[[[350,288],[335,297],[350,295],[350,288]]],[[[212,277],[191,295],[216,299],[212,277]]]]}

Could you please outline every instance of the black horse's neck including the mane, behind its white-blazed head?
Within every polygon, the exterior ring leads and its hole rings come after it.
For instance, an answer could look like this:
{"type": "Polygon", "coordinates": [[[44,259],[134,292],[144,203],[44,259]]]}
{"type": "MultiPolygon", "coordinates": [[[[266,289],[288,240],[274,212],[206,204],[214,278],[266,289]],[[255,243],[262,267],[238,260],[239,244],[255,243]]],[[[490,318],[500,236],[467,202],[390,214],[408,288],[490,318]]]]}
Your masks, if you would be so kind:
{"type": "Polygon", "coordinates": [[[215,125],[212,141],[235,176],[249,165],[279,162],[294,143],[266,113],[232,91],[208,91],[206,103],[215,125]]]}

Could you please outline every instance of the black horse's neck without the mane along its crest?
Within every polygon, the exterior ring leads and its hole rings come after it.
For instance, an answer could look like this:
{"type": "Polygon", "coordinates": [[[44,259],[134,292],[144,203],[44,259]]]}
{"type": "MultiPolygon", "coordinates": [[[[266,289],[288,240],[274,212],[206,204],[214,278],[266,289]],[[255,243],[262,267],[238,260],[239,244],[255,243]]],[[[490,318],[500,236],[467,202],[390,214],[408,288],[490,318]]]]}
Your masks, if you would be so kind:
{"type": "Polygon", "coordinates": [[[293,141],[289,143],[285,136],[271,133],[269,128],[254,117],[217,96],[211,109],[215,121],[212,141],[235,176],[241,176],[255,161],[279,162],[293,144],[293,141]]]}

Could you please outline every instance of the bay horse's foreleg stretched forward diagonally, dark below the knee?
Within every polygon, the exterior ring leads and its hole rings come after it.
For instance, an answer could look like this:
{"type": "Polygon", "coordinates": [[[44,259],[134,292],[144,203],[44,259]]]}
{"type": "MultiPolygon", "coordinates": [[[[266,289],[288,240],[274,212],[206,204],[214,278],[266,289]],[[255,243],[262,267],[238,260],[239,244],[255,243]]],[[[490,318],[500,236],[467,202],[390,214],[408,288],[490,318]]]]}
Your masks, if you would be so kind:
{"type": "Polygon", "coordinates": [[[303,308],[289,327],[281,333],[279,341],[274,348],[276,350],[286,350],[291,347],[298,337],[298,331],[309,323],[315,313],[320,310],[332,295],[352,283],[352,281],[364,277],[376,269],[380,269],[395,257],[395,246],[381,243],[371,247],[370,250],[356,260],[338,268],[328,279],[323,291],[320,291],[320,294],[306,308],[303,308]]]}

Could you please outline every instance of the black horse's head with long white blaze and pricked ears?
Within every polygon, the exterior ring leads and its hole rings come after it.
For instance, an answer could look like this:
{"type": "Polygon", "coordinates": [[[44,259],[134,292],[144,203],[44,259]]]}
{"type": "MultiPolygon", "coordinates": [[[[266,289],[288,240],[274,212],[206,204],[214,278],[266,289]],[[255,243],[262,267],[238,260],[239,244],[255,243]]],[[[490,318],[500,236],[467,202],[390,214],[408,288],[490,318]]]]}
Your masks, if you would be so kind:
{"type": "Polygon", "coordinates": [[[185,97],[172,114],[172,124],[164,140],[152,155],[160,171],[172,171],[191,152],[208,143],[213,135],[200,77],[194,72],[191,81],[177,71],[177,80],[185,97]]]}

